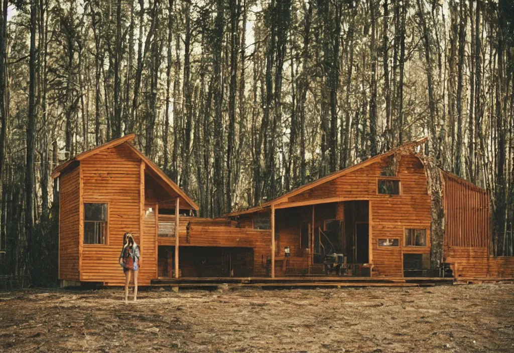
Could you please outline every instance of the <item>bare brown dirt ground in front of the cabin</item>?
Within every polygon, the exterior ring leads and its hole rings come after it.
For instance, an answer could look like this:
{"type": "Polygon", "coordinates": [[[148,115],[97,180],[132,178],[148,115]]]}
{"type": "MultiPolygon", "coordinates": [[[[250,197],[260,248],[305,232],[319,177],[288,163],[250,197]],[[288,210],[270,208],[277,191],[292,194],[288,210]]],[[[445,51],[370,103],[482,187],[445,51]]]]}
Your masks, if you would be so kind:
{"type": "Polygon", "coordinates": [[[6,352],[514,352],[514,284],[0,292],[6,352]]]}

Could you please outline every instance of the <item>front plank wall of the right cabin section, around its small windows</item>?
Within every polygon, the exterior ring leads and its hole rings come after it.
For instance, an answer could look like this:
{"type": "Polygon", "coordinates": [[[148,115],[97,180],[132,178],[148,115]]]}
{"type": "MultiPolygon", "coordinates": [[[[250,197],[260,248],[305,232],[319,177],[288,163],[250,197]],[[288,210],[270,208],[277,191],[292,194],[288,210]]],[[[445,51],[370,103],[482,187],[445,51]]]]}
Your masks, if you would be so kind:
{"type": "MultiPolygon", "coordinates": [[[[313,187],[288,199],[288,202],[341,198],[369,200],[370,261],[374,271],[383,276],[403,276],[403,253],[430,253],[430,195],[423,164],[413,154],[397,156],[399,195],[377,191],[378,179],[385,162],[376,162],[352,173],[313,187]],[[405,228],[425,228],[425,247],[404,246],[405,228]],[[398,247],[379,247],[378,239],[398,239],[398,247]]],[[[344,213],[344,210],[342,210],[344,213]]],[[[341,210],[338,211],[341,213],[341,210]]]]}

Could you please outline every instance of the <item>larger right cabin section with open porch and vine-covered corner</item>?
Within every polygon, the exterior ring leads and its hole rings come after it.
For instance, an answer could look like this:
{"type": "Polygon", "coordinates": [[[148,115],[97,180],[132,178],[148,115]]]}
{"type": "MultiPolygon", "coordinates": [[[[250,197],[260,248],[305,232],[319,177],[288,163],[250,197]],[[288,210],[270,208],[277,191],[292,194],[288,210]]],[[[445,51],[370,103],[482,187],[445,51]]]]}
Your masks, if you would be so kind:
{"type": "Polygon", "coordinates": [[[431,174],[416,152],[426,141],[228,217],[271,238],[272,250],[254,256],[267,258],[271,277],[322,274],[331,253],[354,276],[438,277],[445,267],[455,277],[514,276],[514,258],[491,256],[487,191],[437,167],[431,174]],[[430,179],[440,179],[438,188],[430,179]]]}

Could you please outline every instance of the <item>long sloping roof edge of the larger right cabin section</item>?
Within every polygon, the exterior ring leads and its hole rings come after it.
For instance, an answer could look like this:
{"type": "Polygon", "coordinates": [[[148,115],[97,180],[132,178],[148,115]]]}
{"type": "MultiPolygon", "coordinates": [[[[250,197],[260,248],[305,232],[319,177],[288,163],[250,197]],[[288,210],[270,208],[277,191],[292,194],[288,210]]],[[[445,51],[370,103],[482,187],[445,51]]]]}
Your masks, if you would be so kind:
{"type": "Polygon", "coordinates": [[[396,153],[397,151],[401,150],[401,149],[405,149],[405,148],[410,148],[410,147],[417,147],[425,142],[428,141],[428,137],[424,137],[422,139],[418,139],[418,140],[415,140],[415,141],[411,141],[411,142],[408,142],[408,143],[405,143],[395,149],[392,149],[388,152],[385,152],[385,153],[381,153],[381,154],[377,154],[375,156],[373,156],[372,158],[369,158],[365,161],[362,161],[360,163],[357,163],[357,164],[354,164],[353,166],[350,166],[348,168],[345,168],[345,169],[341,169],[339,171],[336,171],[332,174],[328,174],[328,175],[325,175],[325,177],[323,178],[319,178],[313,182],[310,182],[308,184],[305,184],[305,185],[302,185],[294,190],[291,190],[285,194],[283,194],[282,196],[279,196],[278,198],[276,199],[273,199],[273,200],[270,200],[270,201],[267,201],[267,202],[264,202],[258,206],[255,206],[255,207],[252,207],[252,208],[249,208],[249,209],[246,209],[246,210],[241,210],[241,211],[233,211],[233,212],[230,212],[228,214],[226,214],[226,217],[233,217],[233,216],[236,216],[236,215],[240,215],[240,214],[246,214],[246,213],[253,213],[253,212],[256,212],[256,211],[259,211],[263,208],[266,208],[266,207],[269,207],[271,205],[276,205],[276,204],[279,204],[279,203],[282,203],[282,202],[287,202],[287,199],[290,198],[290,197],[293,197],[299,193],[302,193],[304,191],[307,191],[309,189],[312,189],[318,185],[321,185],[321,184],[324,184],[326,182],[329,182],[331,180],[334,180],[336,178],[339,178],[339,177],[342,177],[343,175],[346,175],[346,174],[349,174],[357,169],[360,169],[360,168],[363,168],[365,166],[368,166],[370,164],[373,164],[373,163],[376,163],[378,161],[380,161],[382,158],[385,158],[385,157],[388,157],[390,155],[393,155],[394,153],[396,153]]]}

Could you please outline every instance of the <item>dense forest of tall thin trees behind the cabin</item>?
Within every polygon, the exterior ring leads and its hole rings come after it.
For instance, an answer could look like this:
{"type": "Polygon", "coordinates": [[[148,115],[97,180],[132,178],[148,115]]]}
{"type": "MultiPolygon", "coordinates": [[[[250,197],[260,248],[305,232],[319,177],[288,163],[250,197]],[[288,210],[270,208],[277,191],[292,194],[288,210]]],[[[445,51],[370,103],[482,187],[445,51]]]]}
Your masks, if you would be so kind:
{"type": "Polygon", "coordinates": [[[57,282],[50,173],[128,133],[201,217],[428,136],[512,256],[512,0],[0,4],[0,287],[57,282]]]}

